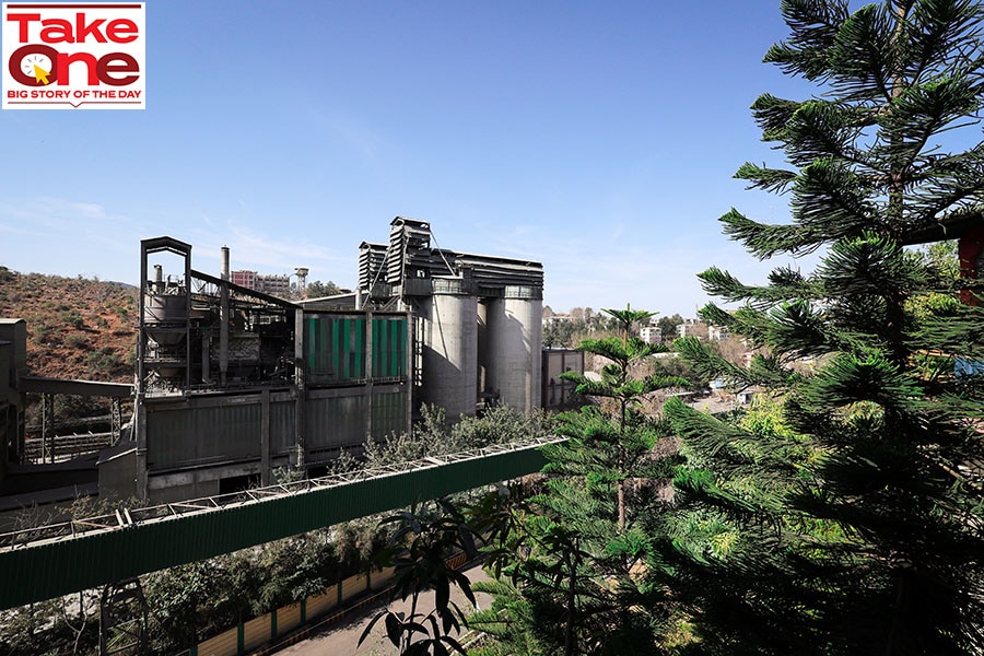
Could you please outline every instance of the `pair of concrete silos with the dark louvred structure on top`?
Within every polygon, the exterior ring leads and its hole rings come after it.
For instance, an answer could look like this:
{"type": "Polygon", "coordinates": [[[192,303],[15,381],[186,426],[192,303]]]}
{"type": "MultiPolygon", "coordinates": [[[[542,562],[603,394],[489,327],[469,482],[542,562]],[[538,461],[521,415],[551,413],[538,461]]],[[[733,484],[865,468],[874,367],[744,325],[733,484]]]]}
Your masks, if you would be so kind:
{"type": "Polygon", "coordinates": [[[397,216],[388,244],[360,246],[358,298],[412,314],[421,402],[541,407],[540,262],[436,248],[430,224],[397,216]]]}

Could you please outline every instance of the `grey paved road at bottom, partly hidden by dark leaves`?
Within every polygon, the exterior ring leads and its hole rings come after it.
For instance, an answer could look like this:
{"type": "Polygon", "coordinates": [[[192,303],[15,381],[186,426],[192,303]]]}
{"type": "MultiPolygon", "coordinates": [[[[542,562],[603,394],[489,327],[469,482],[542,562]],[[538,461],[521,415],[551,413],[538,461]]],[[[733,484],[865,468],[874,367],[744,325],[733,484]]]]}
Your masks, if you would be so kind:
{"type": "MultiPolygon", "coordinates": [[[[471,565],[462,570],[462,572],[472,583],[489,581],[489,575],[485,574],[480,564],[471,565]]],[[[458,608],[466,616],[470,613],[471,604],[465,598],[461,590],[454,586],[452,587],[452,600],[458,605],[458,608]]],[[[480,608],[488,608],[492,602],[492,598],[485,594],[477,594],[476,600],[480,608]]],[[[390,606],[390,609],[397,612],[410,612],[410,600],[397,601],[390,606]]],[[[429,591],[421,595],[418,602],[418,611],[430,612],[433,609],[434,593],[429,591]]],[[[350,654],[353,656],[356,654],[360,656],[389,656],[390,654],[396,654],[396,647],[386,637],[383,620],[376,622],[376,625],[373,626],[373,632],[359,646],[359,637],[379,610],[382,610],[382,607],[366,609],[363,613],[345,620],[344,623],[327,629],[324,633],[314,635],[304,642],[285,647],[277,654],[279,656],[348,656],[350,654]]]]}

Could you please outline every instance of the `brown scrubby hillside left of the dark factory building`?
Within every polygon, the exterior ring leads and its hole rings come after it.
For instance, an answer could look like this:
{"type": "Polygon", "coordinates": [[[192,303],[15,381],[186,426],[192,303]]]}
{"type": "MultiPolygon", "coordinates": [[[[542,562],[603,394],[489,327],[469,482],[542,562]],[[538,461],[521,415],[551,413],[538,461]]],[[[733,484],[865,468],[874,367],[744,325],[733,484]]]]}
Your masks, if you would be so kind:
{"type": "Polygon", "coordinates": [[[36,376],[133,382],[137,288],[0,266],[0,317],[27,321],[36,376]]]}

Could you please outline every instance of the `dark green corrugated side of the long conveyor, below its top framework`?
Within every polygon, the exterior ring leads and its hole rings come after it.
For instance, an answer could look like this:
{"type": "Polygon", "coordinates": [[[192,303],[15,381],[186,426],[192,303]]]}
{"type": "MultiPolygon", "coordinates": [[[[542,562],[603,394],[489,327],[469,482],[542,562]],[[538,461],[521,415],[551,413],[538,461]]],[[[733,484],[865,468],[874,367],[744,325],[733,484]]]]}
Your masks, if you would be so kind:
{"type": "Polygon", "coordinates": [[[0,551],[0,609],[49,599],[539,471],[537,449],[0,551]]]}

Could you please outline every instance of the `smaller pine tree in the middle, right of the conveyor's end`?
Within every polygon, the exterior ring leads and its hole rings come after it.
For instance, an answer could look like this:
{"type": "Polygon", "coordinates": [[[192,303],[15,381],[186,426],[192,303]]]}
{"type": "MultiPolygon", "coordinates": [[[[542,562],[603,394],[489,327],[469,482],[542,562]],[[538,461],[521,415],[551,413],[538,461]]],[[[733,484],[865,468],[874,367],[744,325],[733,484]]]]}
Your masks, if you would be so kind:
{"type": "MultiPolygon", "coordinates": [[[[634,375],[639,364],[666,351],[632,333],[652,313],[604,312],[618,321],[620,335],[578,345],[607,360],[600,377],[564,374],[595,402],[558,417],[557,431],[567,441],[543,448],[546,491],[492,523],[492,562],[520,595],[503,598],[505,588],[497,586],[496,604],[514,613],[527,635],[508,645],[500,641],[488,653],[530,644],[565,656],[656,653],[663,591],[640,574],[651,553],[640,517],[658,505],[669,467],[654,449],[664,431],[640,403],[645,394],[688,382],[634,375]]],[[[492,516],[494,507],[487,503],[484,515],[492,516]]],[[[501,632],[493,619],[485,613],[469,625],[501,632]]]]}

